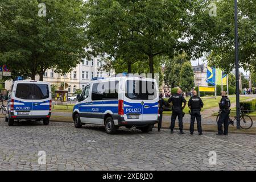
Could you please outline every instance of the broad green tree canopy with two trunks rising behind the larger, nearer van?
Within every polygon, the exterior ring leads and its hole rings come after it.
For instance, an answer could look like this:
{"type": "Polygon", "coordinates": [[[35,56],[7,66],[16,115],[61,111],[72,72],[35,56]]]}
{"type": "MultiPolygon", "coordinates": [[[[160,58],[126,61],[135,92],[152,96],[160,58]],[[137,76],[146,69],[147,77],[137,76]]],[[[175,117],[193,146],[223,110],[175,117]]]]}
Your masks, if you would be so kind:
{"type": "Polygon", "coordinates": [[[110,61],[126,61],[128,72],[131,64],[146,57],[154,74],[156,56],[172,57],[185,49],[183,39],[192,16],[189,1],[89,0],[86,5],[90,53],[107,53],[110,61]]]}

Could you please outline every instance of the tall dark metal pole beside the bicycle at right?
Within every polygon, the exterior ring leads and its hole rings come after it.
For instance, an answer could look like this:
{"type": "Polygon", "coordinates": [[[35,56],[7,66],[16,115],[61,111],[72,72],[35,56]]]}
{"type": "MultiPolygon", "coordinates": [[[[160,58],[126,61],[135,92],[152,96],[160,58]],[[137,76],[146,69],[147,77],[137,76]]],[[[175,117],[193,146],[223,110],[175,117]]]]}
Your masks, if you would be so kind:
{"type": "Polygon", "coordinates": [[[237,129],[240,129],[240,90],[239,90],[239,63],[238,63],[238,24],[237,24],[237,0],[234,0],[235,20],[235,49],[236,49],[236,104],[237,104],[237,129]]]}

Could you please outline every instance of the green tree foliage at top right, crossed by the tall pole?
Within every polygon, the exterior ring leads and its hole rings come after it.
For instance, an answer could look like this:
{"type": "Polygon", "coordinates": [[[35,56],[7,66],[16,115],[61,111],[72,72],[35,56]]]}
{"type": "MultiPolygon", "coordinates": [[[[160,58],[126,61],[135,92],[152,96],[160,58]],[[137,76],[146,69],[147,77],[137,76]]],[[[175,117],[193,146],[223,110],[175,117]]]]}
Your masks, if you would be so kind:
{"type": "MultiPolygon", "coordinates": [[[[192,16],[191,34],[188,42],[197,44],[192,47],[194,55],[204,52],[208,56],[208,64],[230,72],[234,68],[234,1],[233,0],[199,0],[196,1],[192,16]],[[210,3],[214,2],[216,16],[209,16],[210,3]]],[[[238,35],[240,67],[256,69],[255,24],[256,2],[238,1],[238,35]]]]}

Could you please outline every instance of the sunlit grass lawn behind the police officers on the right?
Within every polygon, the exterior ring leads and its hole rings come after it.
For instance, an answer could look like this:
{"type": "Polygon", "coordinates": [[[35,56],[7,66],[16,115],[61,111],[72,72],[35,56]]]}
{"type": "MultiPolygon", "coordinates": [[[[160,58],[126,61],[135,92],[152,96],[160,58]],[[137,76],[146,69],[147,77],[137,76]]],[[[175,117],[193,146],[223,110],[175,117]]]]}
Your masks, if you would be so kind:
{"type": "MultiPolygon", "coordinates": [[[[247,99],[249,99],[251,97],[240,97],[240,101],[245,101],[247,99]]],[[[187,104],[188,104],[188,100],[189,100],[189,97],[185,98],[187,100],[187,104]]],[[[210,108],[213,108],[213,107],[218,107],[218,102],[220,102],[220,99],[221,99],[221,96],[217,96],[217,99],[214,99],[214,98],[204,98],[202,97],[202,100],[204,102],[204,108],[202,109],[205,110],[205,109],[210,109],[210,108]]],[[[236,97],[229,97],[230,99],[230,102],[233,103],[233,102],[236,102],[236,97]]],[[[188,114],[188,111],[189,111],[189,108],[188,108],[188,105],[185,106],[185,109],[183,110],[186,114],[188,114]]],[[[164,111],[163,114],[171,114],[172,111],[164,111]]]]}

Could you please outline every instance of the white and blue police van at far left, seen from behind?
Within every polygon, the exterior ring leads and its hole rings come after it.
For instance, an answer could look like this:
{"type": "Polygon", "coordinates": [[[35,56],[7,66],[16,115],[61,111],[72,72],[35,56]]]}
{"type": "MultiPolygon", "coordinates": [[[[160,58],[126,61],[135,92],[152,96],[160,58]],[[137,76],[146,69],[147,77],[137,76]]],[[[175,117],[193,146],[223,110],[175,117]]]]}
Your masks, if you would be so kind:
{"type": "Polygon", "coordinates": [[[51,85],[43,81],[14,81],[8,95],[5,121],[15,119],[43,120],[49,124],[52,110],[51,85]]]}

